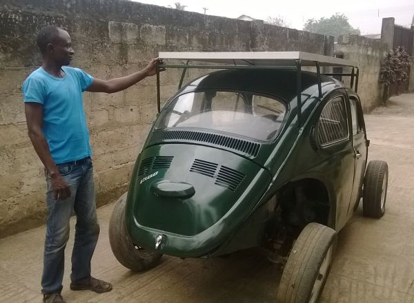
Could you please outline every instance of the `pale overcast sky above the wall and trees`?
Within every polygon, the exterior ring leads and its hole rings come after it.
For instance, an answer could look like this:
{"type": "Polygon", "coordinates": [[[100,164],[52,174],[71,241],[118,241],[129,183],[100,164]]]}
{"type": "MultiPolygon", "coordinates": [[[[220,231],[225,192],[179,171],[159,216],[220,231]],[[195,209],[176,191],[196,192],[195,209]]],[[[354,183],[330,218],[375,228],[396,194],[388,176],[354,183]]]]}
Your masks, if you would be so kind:
{"type": "Polygon", "coordinates": [[[394,17],[395,23],[410,27],[414,14],[414,0],[134,0],[135,2],[155,4],[157,6],[172,6],[179,2],[187,11],[199,12],[215,16],[237,18],[246,14],[254,19],[265,20],[268,17],[283,17],[290,28],[303,29],[308,19],[331,17],[336,12],[348,17],[354,28],[359,28],[361,34],[380,34],[382,18],[394,17]]]}

